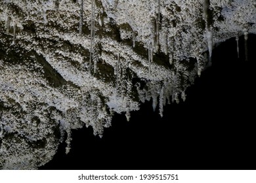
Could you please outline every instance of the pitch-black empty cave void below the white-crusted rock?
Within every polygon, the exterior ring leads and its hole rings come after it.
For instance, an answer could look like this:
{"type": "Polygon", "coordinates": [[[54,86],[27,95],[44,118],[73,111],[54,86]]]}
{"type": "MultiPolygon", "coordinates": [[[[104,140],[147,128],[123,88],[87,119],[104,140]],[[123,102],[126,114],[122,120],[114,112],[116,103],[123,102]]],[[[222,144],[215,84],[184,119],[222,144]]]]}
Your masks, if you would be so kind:
{"type": "Polygon", "coordinates": [[[185,102],[167,105],[164,116],[152,101],[125,115],[116,114],[102,139],[92,127],[74,130],[72,149],[61,144],[39,169],[256,169],[256,35],[234,38],[213,50],[213,65],[188,88],[185,102]]]}

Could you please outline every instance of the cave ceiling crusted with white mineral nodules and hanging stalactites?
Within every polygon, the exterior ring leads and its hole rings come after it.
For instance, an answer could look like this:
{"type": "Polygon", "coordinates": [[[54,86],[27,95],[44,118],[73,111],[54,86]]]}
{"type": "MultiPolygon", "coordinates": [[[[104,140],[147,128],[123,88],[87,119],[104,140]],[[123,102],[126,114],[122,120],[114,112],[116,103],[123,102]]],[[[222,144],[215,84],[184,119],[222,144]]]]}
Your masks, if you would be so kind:
{"type": "MultiPolygon", "coordinates": [[[[0,1],[0,168],[37,169],[71,129],[186,99],[214,46],[256,33],[254,0],[0,1]]],[[[239,41],[239,40],[238,40],[239,41]]],[[[239,48],[238,48],[239,52],[239,48]]]]}

